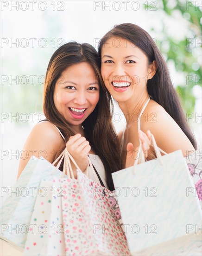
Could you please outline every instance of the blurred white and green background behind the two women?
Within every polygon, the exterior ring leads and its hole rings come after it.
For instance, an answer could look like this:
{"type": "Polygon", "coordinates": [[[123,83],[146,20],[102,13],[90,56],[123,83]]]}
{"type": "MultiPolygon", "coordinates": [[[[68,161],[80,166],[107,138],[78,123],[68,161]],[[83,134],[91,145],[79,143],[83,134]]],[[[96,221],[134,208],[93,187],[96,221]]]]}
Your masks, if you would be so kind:
{"type": "MultiPolygon", "coordinates": [[[[0,4],[1,187],[15,183],[19,159],[26,157],[24,142],[44,119],[44,75],[51,55],[70,40],[97,49],[115,24],[135,23],[151,34],[168,64],[198,147],[202,146],[201,0],[1,0],[0,4]]],[[[118,106],[114,113],[119,113],[113,116],[119,131],[126,122],[118,106]]],[[[3,196],[1,203],[4,200],[3,196]]]]}

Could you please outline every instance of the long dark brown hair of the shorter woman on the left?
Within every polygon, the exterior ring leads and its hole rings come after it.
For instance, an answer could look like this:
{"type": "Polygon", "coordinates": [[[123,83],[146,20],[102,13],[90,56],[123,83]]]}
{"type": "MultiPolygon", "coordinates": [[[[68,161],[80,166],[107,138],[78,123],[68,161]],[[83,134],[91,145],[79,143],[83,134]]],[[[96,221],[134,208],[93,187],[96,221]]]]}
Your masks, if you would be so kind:
{"type": "Polygon", "coordinates": [[[107,93],[103,90],[103,81],[100,73],[101,62],[95,48],[90,44],[66,43],[59,47],[50,58],[44,85],[44,115],[47,120],[60,128],[65,142],[69,140],[69,136],[74,135],[68,121],[58,112],[53,101],[53,94],[56,81],[62,72],[66,68],[82,62],[87,62],[94,69],[100,85],[100,99],[94,111],[83,121],[82,126],[91,148],[95,151],[95,154],[99,155],[103,162],[107,186],[110,190],[114,190],[111,173],[121,168],[119,142],[112,126],[110,100],[107,97],[107,93]]]}

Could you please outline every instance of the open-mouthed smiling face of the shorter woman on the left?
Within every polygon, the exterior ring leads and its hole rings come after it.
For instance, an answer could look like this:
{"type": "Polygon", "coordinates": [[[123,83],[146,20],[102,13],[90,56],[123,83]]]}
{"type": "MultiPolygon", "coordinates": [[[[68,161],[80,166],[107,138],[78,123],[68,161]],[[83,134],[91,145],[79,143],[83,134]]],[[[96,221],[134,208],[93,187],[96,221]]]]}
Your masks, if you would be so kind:
{"type": "Polygon", "coordinates": [[[94,69],[82,62],[65,69],[56,82],[54,104],[70,126],[82,122],[95,109],[99,101],[99,83],[94,69]]]}

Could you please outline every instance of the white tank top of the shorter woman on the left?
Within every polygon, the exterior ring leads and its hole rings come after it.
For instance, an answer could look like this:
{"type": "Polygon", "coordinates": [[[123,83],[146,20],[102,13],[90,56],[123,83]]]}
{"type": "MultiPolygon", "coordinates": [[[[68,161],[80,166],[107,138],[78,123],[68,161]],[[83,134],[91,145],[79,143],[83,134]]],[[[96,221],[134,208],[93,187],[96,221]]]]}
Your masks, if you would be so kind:
{"type": "MultiPolygon", "coordinates": [[[[63,138],[64,140],[64,136],[63,134],[61,133],[60,129],[55,125],[55,127],[57,128],[58,132],[60,133],[61,137],[63,138]]],[[[90,161],[92,162],[92,164],[94,165],[96,171],[98,172],[100,178],[101,178],[101,181],[103,182],[105,188],[108,188],[107,187],[107,182],[106,182],[106,175],[105,175],[105,168],[104,168],[104,165],[103,163],[101,162],[101,159],[98,155],[94,155],[94,154],[88,154],[89,158],[90,158],[90,161]]],[[[89,169],[89,172],[88,172],[88,176],[91,180],[95,181],[95,175],[93,174],[91,168],[89,169]]]]}

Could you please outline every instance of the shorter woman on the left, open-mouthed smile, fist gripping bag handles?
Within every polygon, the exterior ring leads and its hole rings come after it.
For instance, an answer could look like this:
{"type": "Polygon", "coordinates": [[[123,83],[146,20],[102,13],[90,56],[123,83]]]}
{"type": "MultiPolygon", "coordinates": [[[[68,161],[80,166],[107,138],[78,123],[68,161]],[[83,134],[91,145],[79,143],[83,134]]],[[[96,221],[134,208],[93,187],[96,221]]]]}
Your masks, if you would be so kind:
{"type": "Polygon", "coordinates": [[[39,122],[27,138],[24,150],[30,154],[20,160],[18,176],[32,155],[53,163],[67,147],[82,171],[87,168],[89,155],[101,184],[114,189],[111,173],[120,169],[120,151],[111,123],[110,101],[101,83],[94,47],[69,42],[57,49],[45,77],[46,120],[39,122]]]}

